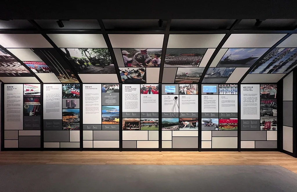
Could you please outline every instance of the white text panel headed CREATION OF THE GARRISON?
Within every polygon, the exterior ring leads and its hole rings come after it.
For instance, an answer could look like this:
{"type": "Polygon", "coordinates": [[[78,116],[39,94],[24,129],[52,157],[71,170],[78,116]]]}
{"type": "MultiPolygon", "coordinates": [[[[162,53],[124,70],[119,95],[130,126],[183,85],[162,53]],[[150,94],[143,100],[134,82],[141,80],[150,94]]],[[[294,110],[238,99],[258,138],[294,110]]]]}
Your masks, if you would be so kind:
{"type": "Polygon", "coordinates": [[[23,129],[23,85],[4,85],[4,130],[23,129]]]}

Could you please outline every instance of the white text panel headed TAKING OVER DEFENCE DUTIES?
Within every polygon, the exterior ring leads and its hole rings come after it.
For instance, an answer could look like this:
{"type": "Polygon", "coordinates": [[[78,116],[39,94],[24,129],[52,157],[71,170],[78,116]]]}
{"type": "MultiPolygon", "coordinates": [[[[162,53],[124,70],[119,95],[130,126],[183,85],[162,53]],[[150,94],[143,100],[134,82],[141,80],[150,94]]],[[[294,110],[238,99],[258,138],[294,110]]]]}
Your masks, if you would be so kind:
{"type": "Polygon", "coordinates": [[[43,119],[62,119],[62,84],[43,85],[43,119]]]}

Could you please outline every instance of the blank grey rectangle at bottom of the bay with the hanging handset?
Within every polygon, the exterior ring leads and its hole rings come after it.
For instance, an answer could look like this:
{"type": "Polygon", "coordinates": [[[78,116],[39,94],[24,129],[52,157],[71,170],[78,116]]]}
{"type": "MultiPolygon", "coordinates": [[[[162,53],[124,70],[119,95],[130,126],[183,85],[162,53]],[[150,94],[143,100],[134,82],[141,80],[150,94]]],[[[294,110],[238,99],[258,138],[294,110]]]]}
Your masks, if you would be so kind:
{"type": "Polygon", "coordinates": [[[172,148],[198,148],[198,137],[172,137],[172,148]]]}

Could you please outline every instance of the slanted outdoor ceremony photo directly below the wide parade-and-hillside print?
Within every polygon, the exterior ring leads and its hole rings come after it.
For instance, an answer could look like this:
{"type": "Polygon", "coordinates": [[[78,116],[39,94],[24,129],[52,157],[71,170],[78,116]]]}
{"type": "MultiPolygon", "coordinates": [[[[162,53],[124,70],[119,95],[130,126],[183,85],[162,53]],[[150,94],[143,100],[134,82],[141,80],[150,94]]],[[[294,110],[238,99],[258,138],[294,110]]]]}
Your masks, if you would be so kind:
{"type": "Polygon", "coordinates": [[[198,83],[203,73],[204,67],[177,68],[175,83],[198,83]]]}

